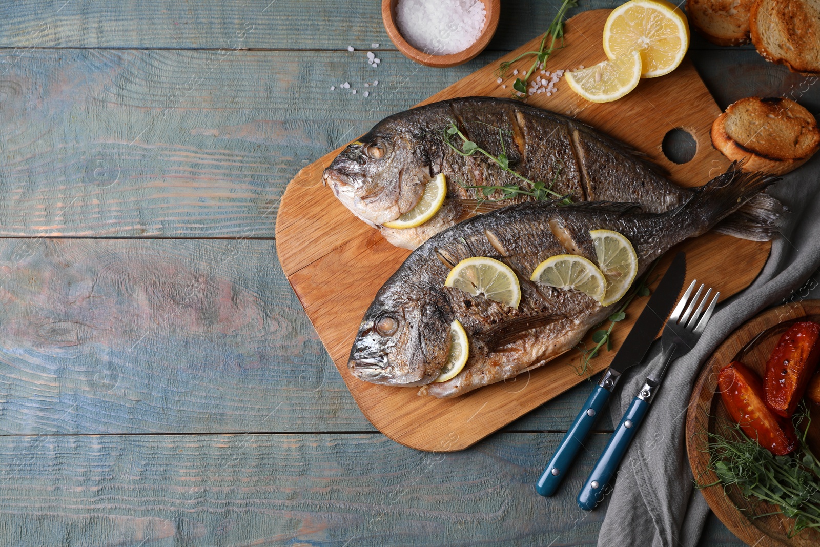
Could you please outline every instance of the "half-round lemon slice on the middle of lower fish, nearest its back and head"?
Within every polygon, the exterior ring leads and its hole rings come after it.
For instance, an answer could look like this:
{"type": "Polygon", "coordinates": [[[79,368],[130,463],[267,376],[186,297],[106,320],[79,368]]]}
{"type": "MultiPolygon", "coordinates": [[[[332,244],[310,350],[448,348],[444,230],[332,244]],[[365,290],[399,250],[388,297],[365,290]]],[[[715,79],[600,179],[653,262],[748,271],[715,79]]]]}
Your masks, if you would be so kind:
{"type": "Polygon", "coordinates": [[[521,286],[512,268],[494,258],[465,258],[456,264],[444,280],[445,287],[455,287],[486,299],[517,308],[521,302],[521,286]]]}

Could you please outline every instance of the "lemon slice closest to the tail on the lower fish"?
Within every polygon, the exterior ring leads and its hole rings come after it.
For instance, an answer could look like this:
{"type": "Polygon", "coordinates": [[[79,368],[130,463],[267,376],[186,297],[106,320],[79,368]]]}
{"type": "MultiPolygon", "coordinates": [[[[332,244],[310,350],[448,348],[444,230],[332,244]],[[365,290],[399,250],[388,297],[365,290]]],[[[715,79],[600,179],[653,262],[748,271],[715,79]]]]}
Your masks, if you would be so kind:
{"type": "Polygon", "coordinates": [[[613,230],[590,230],[598,267],[607,280],[602,306],[622,298],[638,274],[638,255],[626,236],[613,230]]]}

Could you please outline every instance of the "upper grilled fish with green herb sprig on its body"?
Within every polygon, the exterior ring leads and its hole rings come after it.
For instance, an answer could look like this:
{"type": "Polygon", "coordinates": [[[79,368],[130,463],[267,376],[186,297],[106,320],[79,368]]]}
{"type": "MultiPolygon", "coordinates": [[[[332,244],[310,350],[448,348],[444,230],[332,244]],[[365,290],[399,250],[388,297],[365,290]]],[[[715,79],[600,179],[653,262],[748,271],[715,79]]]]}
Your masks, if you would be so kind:
{"type": "MultiPolygon", "coordinates": [[[[495,157],[504,154],[520,175],[551,184],[556,194],[569,195],[572,201],[636,202],[645,212],[665,212],[693,192],[667,180],[642,154],[589,125],[490,97],[456,98],[389,116],[349,144],[325,170],[323,180],[353,214],[380,228],[390,243],[411,249],[477,213],[532,199],[517,195],[492,203],[503,197],[500,190],[484,196],[481,188],[467,188],[520,185],[531,190],[480,153],[463,157],[453,150],[444,140],[451,123],[495,157]],[[446,175],[448,189],[435,217],[416,228],[381,226],[415,207],[427,182],[439,173],[446,175]]],[[[460,138],[452,140],[461,146],[460,138]]],[[[765,194],[755,200],[749,212],[718,230],[771,239],[780,203],[765,194]]]]}

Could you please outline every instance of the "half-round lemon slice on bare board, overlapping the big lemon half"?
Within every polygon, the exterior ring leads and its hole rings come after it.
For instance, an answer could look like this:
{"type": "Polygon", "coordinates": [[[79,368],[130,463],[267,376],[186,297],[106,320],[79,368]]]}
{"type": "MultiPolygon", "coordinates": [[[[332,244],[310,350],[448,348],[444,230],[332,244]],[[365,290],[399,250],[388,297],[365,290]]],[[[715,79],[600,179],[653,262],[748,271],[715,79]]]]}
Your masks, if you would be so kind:
{"type": "Polygon", "coordinates": [[[568,72],[565,76],[572,91],[593,103],[608,103],[622,98],[640,82],[640,53],[627,53],[614,61],[568,72]]]}

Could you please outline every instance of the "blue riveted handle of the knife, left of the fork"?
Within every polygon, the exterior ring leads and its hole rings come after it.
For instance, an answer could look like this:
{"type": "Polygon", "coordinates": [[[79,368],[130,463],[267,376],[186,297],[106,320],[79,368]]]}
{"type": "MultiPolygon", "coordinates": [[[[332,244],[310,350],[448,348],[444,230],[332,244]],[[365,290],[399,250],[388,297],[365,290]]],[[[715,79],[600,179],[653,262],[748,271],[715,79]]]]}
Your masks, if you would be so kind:
{"type": "Polygon", "coordinates": [[[570,465],[575,461],[578,450],[584,443],[587,433],[592,429],[595,420],[601,410],[604,409],[611,392],[600,385],[595,385],[589,398],[586,399],[581,412],[575,417],[567,435],[564,435],[561,444],[558,445],[553,458],[549,460],[549,465],[544,469],[541,478],[535,485],[535,491],[540,495],[553,495],[558,490],[563,477],[567,474],[570,465]]]}

